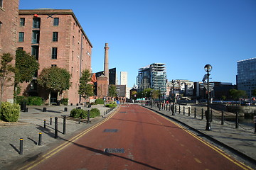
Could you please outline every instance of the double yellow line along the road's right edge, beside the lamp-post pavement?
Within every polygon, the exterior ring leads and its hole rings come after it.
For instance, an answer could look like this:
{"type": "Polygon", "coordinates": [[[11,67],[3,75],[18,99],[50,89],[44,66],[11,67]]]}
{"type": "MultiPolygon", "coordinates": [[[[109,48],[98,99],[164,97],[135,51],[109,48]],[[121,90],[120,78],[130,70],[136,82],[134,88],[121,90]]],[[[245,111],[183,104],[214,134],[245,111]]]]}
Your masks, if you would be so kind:
{"type": "MultiPolygon", "coordinates": [[[[149,110],[151,111],[151,110],[149,110]]],[[[154,111],[152,111],[153,113],[155,113],[154,111]]],[[[209,142],[206,142],[205,140],[203,140],[201,137],[198,137],[197,135],[193,134],[192,132],[190,132],[189,130],[187,130],[186,128],[184,128],[183,126],[179,125],[178,123],[175,123],[174,121],[170,120],[169,118],[166,118],[164,115],[160,115],[162,118],[165,118],[166,120],[169,120],[171,123],[174,123],[175,125],[177,125],[179,128],[181,128],[182,130],[184,130],[185,132],[187,132],[189,135],[195,137],[197,140],[199,140],[200,142],[202,142],[204,145],[207,145],[208,147],[210,147],[211,149],[215,150],[215,152],[218,152],[220,155],[222,155],[223,157],[225,157],[226,159],[228,159],[230,162],[233,162],[234,164],[240,166],[242,169],[246,169],[246,170],[253,170],[252,168],[250,168],[249,166],[243,164],[242,162],[239,162],[238,160],[235,160],[234,158],[232,158],[229,154],[226,154],[222,149],[219,149],[218,147],[215,147],[214,145],[211,145],[209,142]]]]}

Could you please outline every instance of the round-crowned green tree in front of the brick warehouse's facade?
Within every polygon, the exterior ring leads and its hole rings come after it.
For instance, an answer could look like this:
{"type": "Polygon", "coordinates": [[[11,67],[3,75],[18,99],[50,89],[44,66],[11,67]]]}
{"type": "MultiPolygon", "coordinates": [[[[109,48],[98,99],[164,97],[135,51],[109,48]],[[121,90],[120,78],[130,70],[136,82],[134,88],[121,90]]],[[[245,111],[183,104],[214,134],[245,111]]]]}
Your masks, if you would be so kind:
{"type": "Polygon", "coordinates": [[[70,88],[70,73],[66,69],[50,67],[42,70],[38,76],[38,84],[48,91],[50,105],[50,93],[68,90],[70,88]]]}

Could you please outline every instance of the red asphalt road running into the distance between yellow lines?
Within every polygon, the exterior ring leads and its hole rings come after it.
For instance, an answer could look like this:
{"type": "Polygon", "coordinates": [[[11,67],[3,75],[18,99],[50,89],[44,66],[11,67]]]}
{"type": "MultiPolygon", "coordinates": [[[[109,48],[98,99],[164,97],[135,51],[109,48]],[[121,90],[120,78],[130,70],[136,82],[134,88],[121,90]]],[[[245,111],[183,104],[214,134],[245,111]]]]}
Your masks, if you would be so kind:
{"type": "Polygon", "coordinates": [[[138,105],[120,106],[105,123],[70,141],[32,169],[248,168],[180,125],[138,105]],[[104,132],[106,129],[117,132],[104,132]],[[123,148],[124,153],[106,153],[106,148],[123,148]]]}

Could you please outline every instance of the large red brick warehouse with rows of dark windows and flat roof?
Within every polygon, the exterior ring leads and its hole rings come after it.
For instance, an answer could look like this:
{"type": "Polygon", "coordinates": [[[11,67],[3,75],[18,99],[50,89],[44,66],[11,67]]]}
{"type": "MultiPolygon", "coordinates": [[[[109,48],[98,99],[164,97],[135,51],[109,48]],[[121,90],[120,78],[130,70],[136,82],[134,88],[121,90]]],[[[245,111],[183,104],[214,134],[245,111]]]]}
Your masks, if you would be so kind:
{"type": "MultiPolygon", "coordinates": [[[[60,96],[51,93],[50,102],[69,98],[69,103],[80,103],[78,94],[80,74],[91,70],[92,44],[72,10],[36,9],[19,10],[18,42],[16,47],[30,52],[43,68],[60,67],[71,74],[72,86],[60,96]]],[[[47,100],[46,91],[39,89],[36,76],[33,81],[22,84],[23,96],[41,96],[47,100]]]]}

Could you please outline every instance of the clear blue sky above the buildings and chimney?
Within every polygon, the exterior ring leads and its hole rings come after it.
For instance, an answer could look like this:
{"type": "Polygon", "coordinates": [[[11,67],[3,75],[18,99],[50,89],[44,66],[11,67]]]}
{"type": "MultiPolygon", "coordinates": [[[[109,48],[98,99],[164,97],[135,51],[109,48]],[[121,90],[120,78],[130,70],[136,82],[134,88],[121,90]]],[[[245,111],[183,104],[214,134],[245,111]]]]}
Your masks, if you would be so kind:
{"type": "Polygon", "coordinates": [[[92,71],[103,70],[109,43],[110,68],[128,72],[166,63],[167,79],[235,84],[237,62],[256,57],[255,0],[20,0],[21,9],[72,9],[92,42],[92,71]]]}

